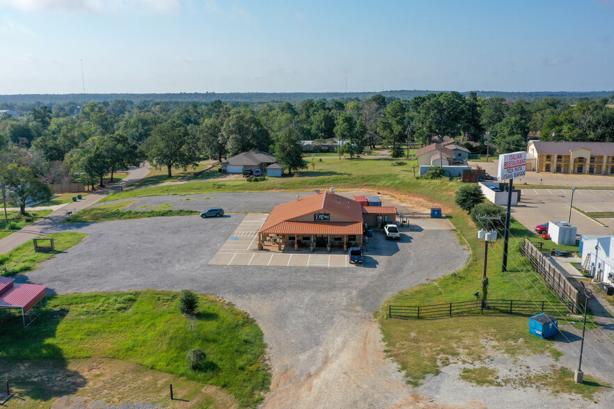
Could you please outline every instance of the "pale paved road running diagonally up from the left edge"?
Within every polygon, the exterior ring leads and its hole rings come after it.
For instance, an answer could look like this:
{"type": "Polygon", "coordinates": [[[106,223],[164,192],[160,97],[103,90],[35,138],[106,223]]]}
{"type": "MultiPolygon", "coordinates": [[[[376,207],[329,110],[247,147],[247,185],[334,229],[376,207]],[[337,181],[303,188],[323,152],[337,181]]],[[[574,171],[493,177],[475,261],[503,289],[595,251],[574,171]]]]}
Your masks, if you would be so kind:
{"type": "Polygon", "coordinates": [[[102,200],[102,198],[107,196],[109,193],[119,191],[129,184],[133,184],[134,182],[143,179],[143,177],[145,177],[148,173],[148,167],[142,166],[141,168],[131,168],[129,170],[129,175],[120,182],[116,182],[107,188],[89,193],[83,200],[79,200],[78,202],[71,202],[68,203],[68,205],[61,205],[60,209],[55,210],[52,214],[49,214],[49,216],[31,223],[22,230],[17,230],[17,232],[0,239],[0,254],[9,252],[10,250],[13,250],[13,248],[26,243],[26,241],[29,241],[36,236],[40,236],[43,234],[42,231],[48,227],[62,223],[62,221],[68,217],[69,211],[72,211],[72,214],[75,214],[78,211],[86,209],[86,207],[90,207],[99,200],[102,200]]]}

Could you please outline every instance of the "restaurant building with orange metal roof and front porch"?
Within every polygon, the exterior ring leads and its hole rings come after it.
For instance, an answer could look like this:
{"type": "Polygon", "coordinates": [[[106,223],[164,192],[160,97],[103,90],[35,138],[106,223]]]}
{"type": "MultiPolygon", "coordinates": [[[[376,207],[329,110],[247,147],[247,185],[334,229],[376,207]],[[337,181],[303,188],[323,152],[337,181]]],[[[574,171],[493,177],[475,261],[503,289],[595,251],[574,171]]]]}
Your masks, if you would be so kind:
{"type": "MultiPolygon", "coordinates": [[[[360,202],[335,193],[335,189],[274,207],[258,232],[258,249],[272,244],[282,248],[343,248],[363,246],[365,221],[395,223],[395,207],[363,207],[360,202]],[[379,218],[378,218],[379,216],[379,218]]],[[[374,223],[374,224],[375,224],[374,223]]]]}

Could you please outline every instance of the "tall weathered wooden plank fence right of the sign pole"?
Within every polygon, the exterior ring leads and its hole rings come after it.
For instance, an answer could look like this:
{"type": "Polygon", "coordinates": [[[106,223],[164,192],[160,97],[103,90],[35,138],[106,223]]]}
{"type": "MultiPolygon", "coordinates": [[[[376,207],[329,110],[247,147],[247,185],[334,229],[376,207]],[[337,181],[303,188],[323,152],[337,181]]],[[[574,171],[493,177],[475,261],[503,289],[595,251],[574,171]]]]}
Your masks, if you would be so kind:
{"type": "Polygon", "coordinates": [[[533,270],[542,276],[561,301],[572,301],[573,307],[569,311],[574,312],[578,307],[578,289],[528,239],[524,239],[521,252],[529,259],[533,270]]]}

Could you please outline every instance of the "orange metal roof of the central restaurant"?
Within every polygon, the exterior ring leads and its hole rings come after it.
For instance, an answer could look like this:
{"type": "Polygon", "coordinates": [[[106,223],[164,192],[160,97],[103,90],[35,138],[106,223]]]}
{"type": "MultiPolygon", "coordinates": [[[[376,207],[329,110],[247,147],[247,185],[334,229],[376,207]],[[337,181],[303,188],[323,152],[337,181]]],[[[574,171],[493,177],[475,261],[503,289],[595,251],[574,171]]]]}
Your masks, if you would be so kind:
{"type": "MultiPolygon", "coordinates": [[[[299,218],[301,216],[305,216],[307,214],[316,213],[317,211],[326,211],[328,213],[336,214],[338,216],[342,216],[347,218],[348,220],[353,220],[354,222],[359,222],[361,224],[363,222],[363,211],[361,204],[356,202],[355,200],[345,198],[343,196],[329,193],[328,191],[324,191],[323,193],[315,193],[314,195],[309,195],[306,198],[302,198],[299,200],[292,200],[292,202],[284,203],[283,205],[278,205],[273,208],[271,214],[265,221],[265,224],[260,228],[260,233],[274,233],[281,234],[278,232],[274,232],[271,230],[271,227],[274,227],[280,223],[291,221],[295,218],[299,218]]],[[[310,224],[310,222],[306,222],[310,224]]],[[[352,223],[349,222],[338,222],[338,223],[352,223]]],[[[311,224],[320,225],[326,224],[331,225],[331,222],[313,222],[311,224]]],[[[311,233],[311,234],[332,234],[332,233],[311,233]]],[[[354,234],[354,233],[349,233],[354,234]]],[[[360,233],[362,234],[362,229],[360,233]]]]}

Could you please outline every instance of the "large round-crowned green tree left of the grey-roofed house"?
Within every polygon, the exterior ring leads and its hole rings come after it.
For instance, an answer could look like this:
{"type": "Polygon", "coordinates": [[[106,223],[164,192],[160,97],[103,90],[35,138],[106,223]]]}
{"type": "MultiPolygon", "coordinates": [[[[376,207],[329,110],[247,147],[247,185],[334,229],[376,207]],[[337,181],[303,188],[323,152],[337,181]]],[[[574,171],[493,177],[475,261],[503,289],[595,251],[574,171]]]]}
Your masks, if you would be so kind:
{"type": "Polygon", "coordinates": [[[198,141],[178,120],[155,127],[141,150],[155,168],[166,166],[168,177],[173,177],[173,168],[187,170],[189,166],[196,167],[200,159],[198,141]]]}

